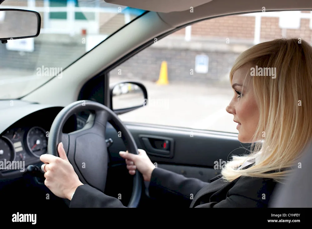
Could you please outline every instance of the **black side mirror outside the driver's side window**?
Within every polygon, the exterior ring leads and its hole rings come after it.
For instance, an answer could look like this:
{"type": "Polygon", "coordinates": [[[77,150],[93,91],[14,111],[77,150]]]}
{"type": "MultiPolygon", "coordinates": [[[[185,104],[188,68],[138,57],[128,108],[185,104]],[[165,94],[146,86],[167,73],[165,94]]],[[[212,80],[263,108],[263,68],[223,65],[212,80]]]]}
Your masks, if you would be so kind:
{"type": "Polygon", "coordinates": [[[117,115],[143,107],[147,90],[142,83],[124,81],[110,87],[110,109],[117,115]]]}

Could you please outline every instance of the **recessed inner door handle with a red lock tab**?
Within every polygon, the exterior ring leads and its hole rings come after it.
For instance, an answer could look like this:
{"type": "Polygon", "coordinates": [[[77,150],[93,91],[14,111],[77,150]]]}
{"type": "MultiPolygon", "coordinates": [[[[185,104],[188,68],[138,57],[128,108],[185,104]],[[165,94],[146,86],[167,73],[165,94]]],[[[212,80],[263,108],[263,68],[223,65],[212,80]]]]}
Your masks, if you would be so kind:
{"type": "Polygon", "coordinates": [[[174,141],[172,138],[153,135],[139,135],[139,138],[148,154],[169,158],[173,157],[174,141]]]}

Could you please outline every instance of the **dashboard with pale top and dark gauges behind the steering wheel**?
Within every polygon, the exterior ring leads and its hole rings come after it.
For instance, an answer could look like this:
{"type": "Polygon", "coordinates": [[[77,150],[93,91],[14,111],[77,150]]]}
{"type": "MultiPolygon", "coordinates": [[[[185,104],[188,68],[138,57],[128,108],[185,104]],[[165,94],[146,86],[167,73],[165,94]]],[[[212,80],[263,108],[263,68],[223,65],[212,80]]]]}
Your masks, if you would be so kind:
{"type": "MultiPolygon", "coordinates": [[[[39,168],[42,164],[40,155],[47,153],[49,131],[55,117],[64,107],[51,104],[31,103],[21,100],[0,100],[0,193],[2,202],[17,206],[46,206],[51,208],[64,204],[45,185],[44,179],[27,169],[39,168]],[[12,162],[11,165],[8,162],[12,162]],[[22,193],[22,198],[19,197],[22,193]],[[47,193],[50,200],[46,201],[47,193]],[[24,198],[26,197],[26,198],[24,198]],[[44,198],[42,198],[44,197],[44,198]],[[7,201],[7,202],[6,202],[7,201]]],[[[82,129],[90,115],[90,111],[82,111],[69,117],[62,129],[63,133],[71,133],[82,129]]],[[[108,150],[108,171],[105,191],[110,196],[118,196],[121,188],[129,187],[125,193],[131,193],[133,179],[124,160],[118,152],[125,150],[123,140],[114,127],[107,123],[107,139],[114,139],[108,150]],[[122,165],[122,166],[119,166],[122,165]],[[116,184],[116,180],[119,180],[116,184]],[[117,193],[117,194],[116,194],[117,193]]],[[[130,196],[124,194],[123,201],[128,203],[130,196]]],[[[66,208],[69,203],[66,203],[66,208]]]]}

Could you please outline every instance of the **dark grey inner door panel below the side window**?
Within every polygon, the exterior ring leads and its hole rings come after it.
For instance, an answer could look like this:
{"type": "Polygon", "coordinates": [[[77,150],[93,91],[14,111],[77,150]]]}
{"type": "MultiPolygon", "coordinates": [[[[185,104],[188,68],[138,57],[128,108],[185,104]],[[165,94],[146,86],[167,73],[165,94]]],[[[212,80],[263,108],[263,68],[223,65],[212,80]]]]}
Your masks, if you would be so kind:
{"type": "MultiPolygon", "coordinates": [[[[157,167],[186,177],[198,178],[204,182],[209,182],[211,178],[219,174],[221,167],[226,164],[226,161],[231,160],[233,154],[241,155],[247,152],[246,147],[248,145],[241,144],[237,140],[237,134],[150,124],[127,122],[125,124],[134,137],[138,148],[144,149],[157,167]],[[142,136],[172,140],[172,157],[161,154],[155,155],[154,152],[150,153],[142,141],[142,136]]],[[[119,151],[126,150],[121,134],[110,124],[107,125],[106,138],[113,140],[113,144],[109,148],[110,161],[115,166],[124,163],[124,159],[119,156],[119,151]]]]}

